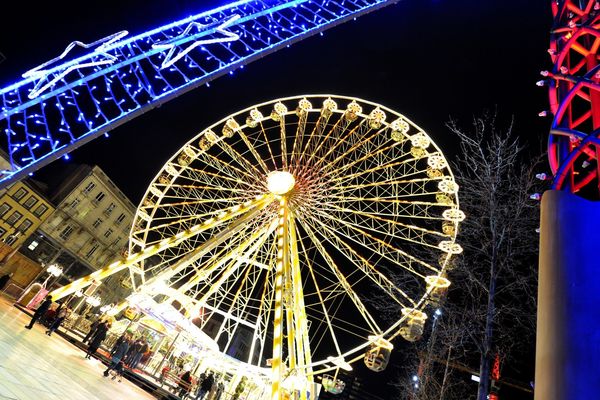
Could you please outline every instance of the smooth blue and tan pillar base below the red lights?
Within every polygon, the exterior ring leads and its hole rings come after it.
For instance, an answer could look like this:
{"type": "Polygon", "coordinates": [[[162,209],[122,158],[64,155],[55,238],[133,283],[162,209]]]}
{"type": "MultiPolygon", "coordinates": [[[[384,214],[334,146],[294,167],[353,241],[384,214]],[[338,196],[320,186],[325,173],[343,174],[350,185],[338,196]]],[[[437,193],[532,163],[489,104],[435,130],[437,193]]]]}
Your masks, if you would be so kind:
{"type": "Polygon", "coordinates": [[[597,398],[600,387],[600,203],[542,197],[535,400],[597,398]]]}

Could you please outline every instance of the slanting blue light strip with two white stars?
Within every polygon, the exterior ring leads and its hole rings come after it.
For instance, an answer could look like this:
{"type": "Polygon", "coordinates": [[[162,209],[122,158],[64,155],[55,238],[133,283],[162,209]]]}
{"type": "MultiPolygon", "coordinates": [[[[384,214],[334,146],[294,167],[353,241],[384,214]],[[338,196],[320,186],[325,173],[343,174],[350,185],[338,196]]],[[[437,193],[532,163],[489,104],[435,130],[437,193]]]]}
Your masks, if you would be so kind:
{"type": "Polygon", "coordinates": [[[72,42],[0,89],[0,188],[280,48],[398,0],[238,1],[141,35],[72,42]],[[75,46],[89,49],[67,60],[75,46]]]}

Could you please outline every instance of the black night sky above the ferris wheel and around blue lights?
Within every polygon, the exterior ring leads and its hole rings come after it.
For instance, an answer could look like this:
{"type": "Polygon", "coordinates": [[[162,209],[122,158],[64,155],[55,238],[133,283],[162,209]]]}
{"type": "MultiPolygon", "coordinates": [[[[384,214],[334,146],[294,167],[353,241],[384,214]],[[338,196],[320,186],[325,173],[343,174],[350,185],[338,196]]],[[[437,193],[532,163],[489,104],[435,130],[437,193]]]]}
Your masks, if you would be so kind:
{"type": "MultiPolygon", "coordinates": [[[[11,2],[0,24],[0,85],[58,55],[73,40],[130,35],[226,2],[128,0],[11,2]],[[175,3],[175,4],[174,4],[175,3]]],[[[268,55],[191,91],[36,172],[44,180],[65,163],[99,165],[138,204],[162,165],[203,128],[278,97],[331,93],[394,109],[424,128],[452,156],[449,118],[468,127],[497,109],[536,149],[547,140],[551,67],[550,0],[404,0],[268,55]]],[[[526,379],[523,379],[526,380],[526,379]]]]}

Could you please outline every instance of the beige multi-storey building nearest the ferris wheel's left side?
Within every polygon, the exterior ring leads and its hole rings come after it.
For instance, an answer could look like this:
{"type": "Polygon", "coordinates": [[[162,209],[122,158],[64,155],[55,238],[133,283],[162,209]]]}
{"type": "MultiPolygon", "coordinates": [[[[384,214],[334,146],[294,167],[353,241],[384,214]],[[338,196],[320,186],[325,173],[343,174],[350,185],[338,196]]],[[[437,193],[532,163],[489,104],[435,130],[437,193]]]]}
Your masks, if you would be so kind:
{"type": "MultiPolygon", "coordinates": [[[[75,167],[62,179],[50,200],[55,211],[21,248],[28,257],[63,267],[55,285],[62,286],[122,257],[136,207],[98,167],[75,167]]],[[[99,287],[102,303],[128,294],[122,274],[99,287]]]]}

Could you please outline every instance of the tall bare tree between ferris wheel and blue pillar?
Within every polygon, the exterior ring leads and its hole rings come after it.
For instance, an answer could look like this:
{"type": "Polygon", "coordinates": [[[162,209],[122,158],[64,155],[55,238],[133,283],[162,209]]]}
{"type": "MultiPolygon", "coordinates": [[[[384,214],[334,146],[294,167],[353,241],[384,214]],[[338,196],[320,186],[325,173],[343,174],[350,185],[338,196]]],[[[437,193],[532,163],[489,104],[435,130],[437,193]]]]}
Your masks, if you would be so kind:
{"type": "Polygon", "coordinates": [[[496,355],[516,369],[535,344],[539,207],[530,196],[545,158],[527,154],[513,121],[502,126],[495,112],[470,129],[455,120],[447,126],[459,145],[452,164],[467,215],[458,234],[464,251],[449,271],[443,316],[416,345],[418,364],[406,364],[412,373],[403,392],[414,400],[485,400],[496,355]],[[471,374],[480,377],[477,397],[471,374]]]}

